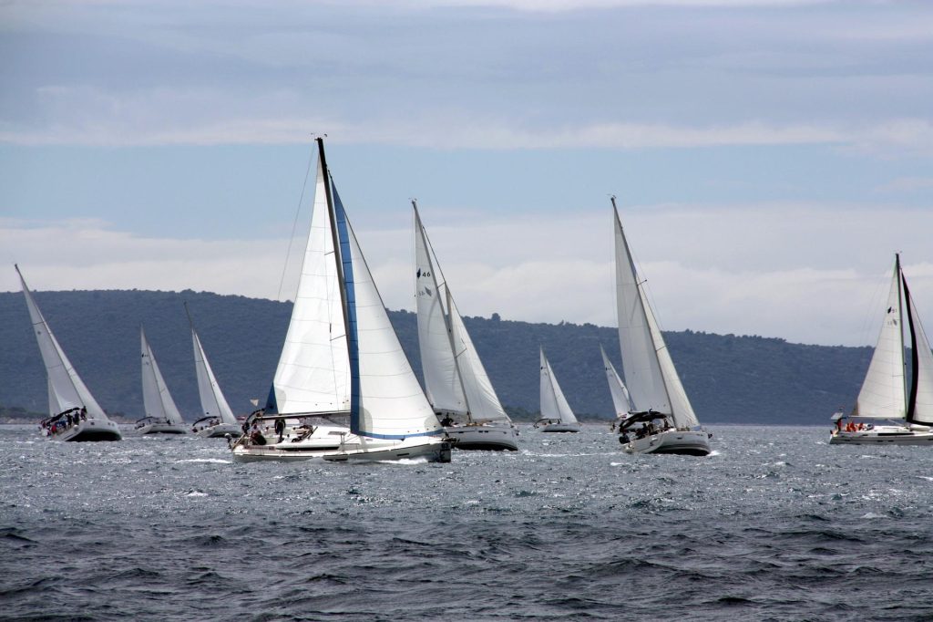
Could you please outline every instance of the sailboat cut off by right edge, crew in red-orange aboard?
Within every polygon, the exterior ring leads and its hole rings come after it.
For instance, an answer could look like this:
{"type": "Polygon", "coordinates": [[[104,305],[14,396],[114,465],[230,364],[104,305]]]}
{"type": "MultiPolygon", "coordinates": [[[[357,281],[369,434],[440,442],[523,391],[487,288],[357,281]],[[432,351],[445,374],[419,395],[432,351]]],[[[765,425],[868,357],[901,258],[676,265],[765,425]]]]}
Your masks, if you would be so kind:
{"type": "Polygon", "coordinates": [[[887,420],[890,425],[845,423],[845,416],[836,413],[830,445],[933,445],[933,353],[900,268],[899,254],[895,255],[885,309],[869,371],[849,417],[887,420]],[[904,358],[905,326],[911,334],[910,382],[904,358]]]}

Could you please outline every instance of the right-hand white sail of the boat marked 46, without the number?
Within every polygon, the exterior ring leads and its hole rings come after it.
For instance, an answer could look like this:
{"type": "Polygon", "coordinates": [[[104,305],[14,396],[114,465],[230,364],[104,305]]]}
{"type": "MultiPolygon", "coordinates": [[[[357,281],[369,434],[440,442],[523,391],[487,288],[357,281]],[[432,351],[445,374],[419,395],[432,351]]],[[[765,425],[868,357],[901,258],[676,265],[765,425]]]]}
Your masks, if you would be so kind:
{"type": "Polygon", "coordinates": [[[495,394],[493,383],[486,374],[480,355],[473,346],[473,340],[466,332],[463,318],[457,305],[453,302],[451,290],[447,290],[447,308],[450,312],[451,329],[453,333],[453,356],[457,360],[460,370],[460,380],[463,383],[466,403],[469,404],[469,415],[473,421],[507,421],[511,419],[506,414],[499,397],[495,394]]]}

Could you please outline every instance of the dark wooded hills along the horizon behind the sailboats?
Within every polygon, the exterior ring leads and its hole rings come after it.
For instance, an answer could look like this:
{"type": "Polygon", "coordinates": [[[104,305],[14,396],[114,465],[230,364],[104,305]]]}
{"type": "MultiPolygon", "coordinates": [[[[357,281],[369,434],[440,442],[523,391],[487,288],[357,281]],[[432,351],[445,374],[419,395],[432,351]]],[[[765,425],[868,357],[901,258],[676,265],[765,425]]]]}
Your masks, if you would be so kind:
{"type": "MultiPolygon", "coordinates": [[[[217,381],[237,414],[265,402],[285,339],[290,303],[191,290],[38,291],[52,332],[108,413],[143,416],[139,327],[146,327],[162,374],[182,414],[200,410],[187,301],[217,381]]],[[[390,311],[416,374],[413,313],[390,311]]],[[[544,346],[567,400],[581,417],[610,418],[612,403],[599,345],[622,365],[615,328],[465,318],[499,399],[520,418],[538,411],[538,353],[544,346]]],[[[0,414],[48,411],[45,369],[21,292],[0,292],[0,414]],[[14,411],[13,409],[18,409],[14,411]]],[[[671,356],[703,423],[827,424],[850,408],[868,368],[870,347],[805,346],[783,339],[664,332],[671,356]]]]}

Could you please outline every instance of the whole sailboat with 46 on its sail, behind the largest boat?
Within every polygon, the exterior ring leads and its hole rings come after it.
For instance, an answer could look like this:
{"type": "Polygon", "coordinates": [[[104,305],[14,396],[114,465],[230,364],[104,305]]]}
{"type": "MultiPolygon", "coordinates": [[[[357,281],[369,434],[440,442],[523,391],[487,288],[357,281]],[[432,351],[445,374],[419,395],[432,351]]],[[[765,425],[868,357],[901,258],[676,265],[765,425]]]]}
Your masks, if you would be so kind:
{"type": "Polygon", "coordinates": [[[518,449],[518,430],[499,403],[493,383],[466,332],[440,270],[425,225],[414,209],[418,346],[425,393],[457,449],[518,449]]]}

